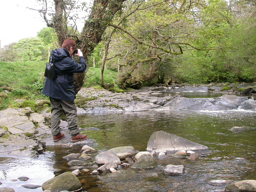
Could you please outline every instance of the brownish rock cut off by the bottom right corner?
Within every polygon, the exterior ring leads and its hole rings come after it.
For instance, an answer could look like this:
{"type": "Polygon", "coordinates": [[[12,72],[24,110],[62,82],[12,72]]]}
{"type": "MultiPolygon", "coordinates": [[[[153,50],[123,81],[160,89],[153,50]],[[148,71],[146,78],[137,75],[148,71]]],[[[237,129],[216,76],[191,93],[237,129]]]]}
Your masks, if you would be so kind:
{"type": "Polygon", "coordinates": [[[242,180],[228,184],[225,188],[226,191],[236,192],[256,192],[256,180],[242,180]]]}

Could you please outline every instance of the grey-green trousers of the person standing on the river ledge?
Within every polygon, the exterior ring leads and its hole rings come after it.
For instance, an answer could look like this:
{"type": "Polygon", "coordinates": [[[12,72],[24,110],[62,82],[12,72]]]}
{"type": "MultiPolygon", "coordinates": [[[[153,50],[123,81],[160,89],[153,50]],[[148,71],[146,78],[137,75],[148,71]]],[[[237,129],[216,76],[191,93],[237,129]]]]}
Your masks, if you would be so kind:
{"type": "Polygon", "coordinates": [[[62,108],[66,112],[66,117],[68,120],[68,130],[70,134],[78,134],[79,129],[77,127],[77,111],[76,104],[74,101],[64,101],[59,99],[54,99],[50,97],[51,103],[51,132],[53,136],[56,136],[60,133],[60,116],[62,114],[62,108]]]}

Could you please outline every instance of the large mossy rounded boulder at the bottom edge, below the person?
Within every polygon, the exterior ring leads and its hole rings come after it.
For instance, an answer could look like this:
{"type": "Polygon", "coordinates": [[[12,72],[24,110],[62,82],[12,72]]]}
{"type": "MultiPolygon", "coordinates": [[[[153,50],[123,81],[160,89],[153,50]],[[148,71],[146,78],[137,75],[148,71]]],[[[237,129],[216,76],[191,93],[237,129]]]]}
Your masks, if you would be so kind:
{"type": "Polygon", "coordinates": [[[42,190],[50,190],[51,192],[74,191],[81,187],[81,182],[71,172],[62,173],[42,184],[42,190]]]}

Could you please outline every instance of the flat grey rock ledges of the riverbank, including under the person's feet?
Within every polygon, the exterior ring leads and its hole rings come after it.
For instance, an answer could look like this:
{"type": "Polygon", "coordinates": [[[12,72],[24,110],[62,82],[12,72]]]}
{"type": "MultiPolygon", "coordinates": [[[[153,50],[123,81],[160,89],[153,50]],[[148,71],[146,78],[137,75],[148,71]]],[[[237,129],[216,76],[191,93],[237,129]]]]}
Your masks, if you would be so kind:
{"type": "MultiPolygon", "coordinates": [[[[238,107],[255,110],[255,102],[247,102],[247,97],[236,96],[239,89],[248,84],[224,85],[209,84],[171,87],[144,87],[140,90],[129,90],[124,93],[113,93],[104,89],[82,88],[75,100],[78,114],[129,113],[146,110],[232,110],[238,107]],[[230,87],[224,89],[224,87],[230,87]],[[224,89],[224,90],[223,90],[224,89]],[[166,92],[220,92],[218,98],[184,98],[178,95],[156,97],[166,92]]],[[[42,102],[42,101],[38,101],[42,102]]],[[[0,156],[36,157],[45,146],[72,146],[71,136],[66,121],[61,128],[65,138],[58,143],[52,140],[50,132],[50,109],[33,112],[31,108],[7,108],[0,111],[0,156]]],[[[83,130],[81,130],[83,131],[83,130]]],[[[75,145],[93,146],[91,139],[75,145]]]]}

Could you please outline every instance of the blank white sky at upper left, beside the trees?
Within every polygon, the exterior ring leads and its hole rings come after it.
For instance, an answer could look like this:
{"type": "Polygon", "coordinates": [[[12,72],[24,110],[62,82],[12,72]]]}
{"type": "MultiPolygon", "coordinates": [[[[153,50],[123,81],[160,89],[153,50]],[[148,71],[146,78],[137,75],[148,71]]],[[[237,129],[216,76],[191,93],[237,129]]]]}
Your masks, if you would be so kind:
{"type": "Polygon", "coordinates": [[[42,28],[47,27],[37,11],[27,8],[36,8],[36,5],[37,0],[1,0],[1,48],[23,38],[36,37],[42,28]]]}

